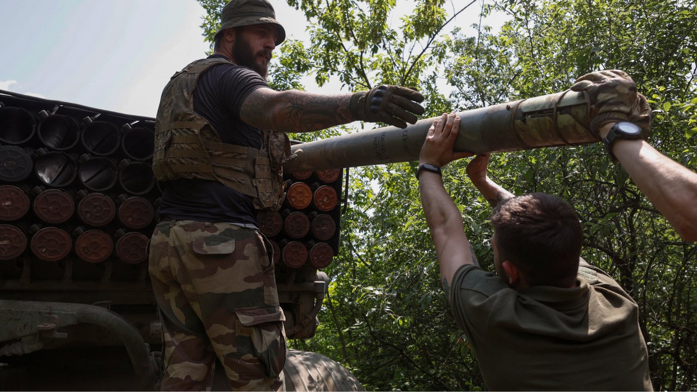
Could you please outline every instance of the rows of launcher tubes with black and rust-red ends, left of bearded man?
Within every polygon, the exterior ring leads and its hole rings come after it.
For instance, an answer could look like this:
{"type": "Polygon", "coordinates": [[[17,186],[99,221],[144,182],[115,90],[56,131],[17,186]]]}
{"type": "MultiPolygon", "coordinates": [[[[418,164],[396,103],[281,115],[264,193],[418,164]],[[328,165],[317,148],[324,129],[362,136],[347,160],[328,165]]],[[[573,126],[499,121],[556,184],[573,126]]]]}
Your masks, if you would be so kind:
{"type": "Polygon", "coordinates": [[[148,162],[154,124],[124,119],[119,129],[120,119],[99,115],[78,123],[72,108],[49,114],[17,102],[0,104],[0,261],[29,250],[49,264],[71,252],[88,263],[112,254],[144,262],[159,197],[148,162]]]}

